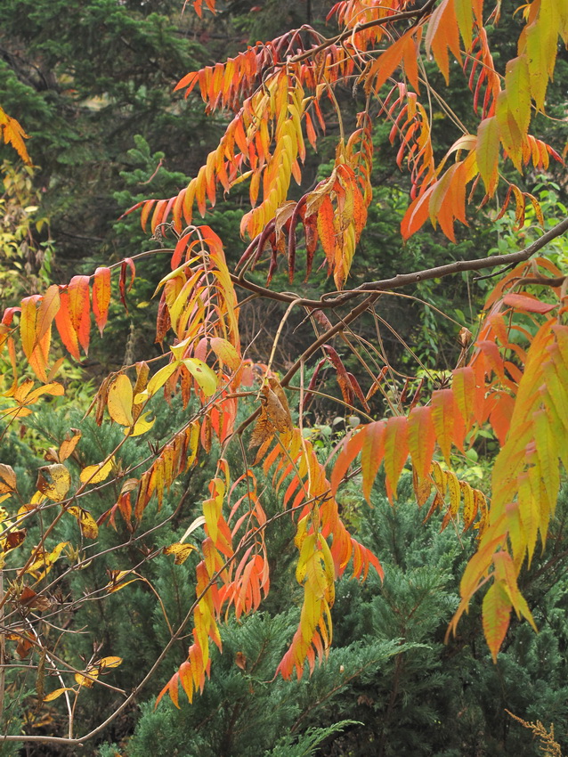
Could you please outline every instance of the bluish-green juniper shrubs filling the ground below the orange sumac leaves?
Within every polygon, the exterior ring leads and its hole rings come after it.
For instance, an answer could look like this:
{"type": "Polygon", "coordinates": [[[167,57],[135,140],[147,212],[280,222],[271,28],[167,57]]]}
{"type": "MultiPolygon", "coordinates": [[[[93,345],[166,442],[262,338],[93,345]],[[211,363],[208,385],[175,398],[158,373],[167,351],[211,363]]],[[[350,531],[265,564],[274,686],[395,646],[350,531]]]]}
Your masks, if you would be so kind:
{"type": "MultiPolygon", "coordinates": [[[[161,403],[153,429],[156,439],[165,438],[187,417],[188,411],[161,403]]],[[[78,412],[65,412],[63,408],[42,411],[31,427],[38,444],[58,444],[69,426],[83,430],[81,466],[100,460],[121,434],[117,428],[116,438],[108,435],[108,429],[102,435],[91,420],[82,420],[78,412]]],[[[122,448],[119,461],[123,465],[134,460],[136,444],[142,443],[132,439],[122,448]]],[[[39,462],[21,458],[13,436],[5,449],[6,461],[20,466],[20,476],[24,476],[24,468],[33,470],[39,462]]],[[[239,456],[229,461],[232,476],[238,476],[239,456]]],[[[169,622],[176,627],[194,598],[196,560],[190,558],[183,566],[174,566],[173,559],[164,555],[150,561],[145,557],[178,540],[187,524],[199,515],[207,480],[213,474],[212,463],[202,460],[194,472],[174,485],[159,513],[155,505],[150,506],[135,534],[142,536],[135,541],[129,543],[131,534],[119,515],[116,530],[109,524],[101,526],[96,549],[110,551],[92,566],[70,574],[58,595],[61,601],[68,595],[77,598],[74,608],[61,613],[57,623],[67,619],[71,628],[79,631],[66,634],[60,648],[60,653],[74,660],[78,668],[96,646],[99,656],[118,655],[124,660],[104,679],[113,685],[131,688],[148,670],[169,638],[164,615],[148,584],[133,582],[103,601],[83,598],[93,597],[93,592],[108,584],[108,569],[139,566],[139,574],[158,591],[169,622]],[[158,523],[164,525],[153,531],[158,523]]],[[[33,484],[28,473],[30,492],[33,484]]],[[[262,487],[264,482],[259,484],[262,487]]],[[[138,705],[113,722],[102,743],[87,743],[83,753],[101,757],[117,753],[125,757],[295,757],[310,753],[308,745],[321,738],[314,753],[330,757],[538,754],[530,734],[509,718],[506,708],[527,720],[554,721],[562,743],[568,728],[566,492],[558,505],[547,553],[542,558],[535,556],[523,578],[522,589],[540,633],[534,634],[526,623],[514,619],[496,665],[491,663],[483,641],[480,607],[476,604],[459,624],[457,638],[444,643],[458,604],[458,576],[472,553],[475,534],[458,537],[451,525],[441,533],[441,517],[423,523],[425,511],[413,501],[409,476],[403,479],[394,506],[381,492],[379,482],[372,509],[361,501],[356,479],[340,492],[345,520],[377,553],[385,568],[385,581],[381,583],[376,574],[369,574],[363,584],[347,578],[338,583],[334,644],[329,660],[316,666],[312,677],[305,675],[299,682],[273,678],[296,629],[302,601],[302,590],[294,579],[295,528],[289,518],[283,518],[266,534],[272,555],[270,597],[262,612],[239,623],[229,619],[223,626],[223,655],[214,647],[211,680],[203,696],[197,696],[190,705],[182,694],[180,710],[167,698],[154,709],[158,688],[187,653],[190,639],[182,639],[160,666],[157,678],[142,692],[138,705]],[[236,664],[241,655],[244,670],[236,664]],[[350,722],[341,731],[328,733],[326,729],[344,720],[350,722]]],[[[22,493],[28,493],[25,484],[22,493]]],[[[99,517],[116,496],[112,486],[103,488],[83,506],[99,517]]],[[[269,489],[264,507],[269,516],[280,508],[269,489]]],[[[199,540],[199,533],[191,538],[199,540]]],[[[82,542],[77,522],[70,516],[61,521],[51,546],[67,540],[84,550],[83,557],[93,549],[91,541],[82,542]]],[[[51,579],[68,565],[69,559],[61,558],[51,579]]],[[[59,685],[56,679],[47,677],[46,690],[59,685]]],[[[28,680],[28,695],[33,721],[33,680],[28,680]]],[[[120,701],[120,696],[109,690],[84,689],[78,700],[77,723],[82,730],[96,726],[120,701]]],[[[33,733],[53,732],[64,717],[62,699],[49,705],[49,710],[51,724],[42,727],[37,722],[33,733]]],[[[10,717],[11,706],[5,714],[10,717]]],[[[18,750],[12,747],[6,753],[16,754],[18,750]]],[[[45,746],[36,753],[74,752],[45,746]]]]}

